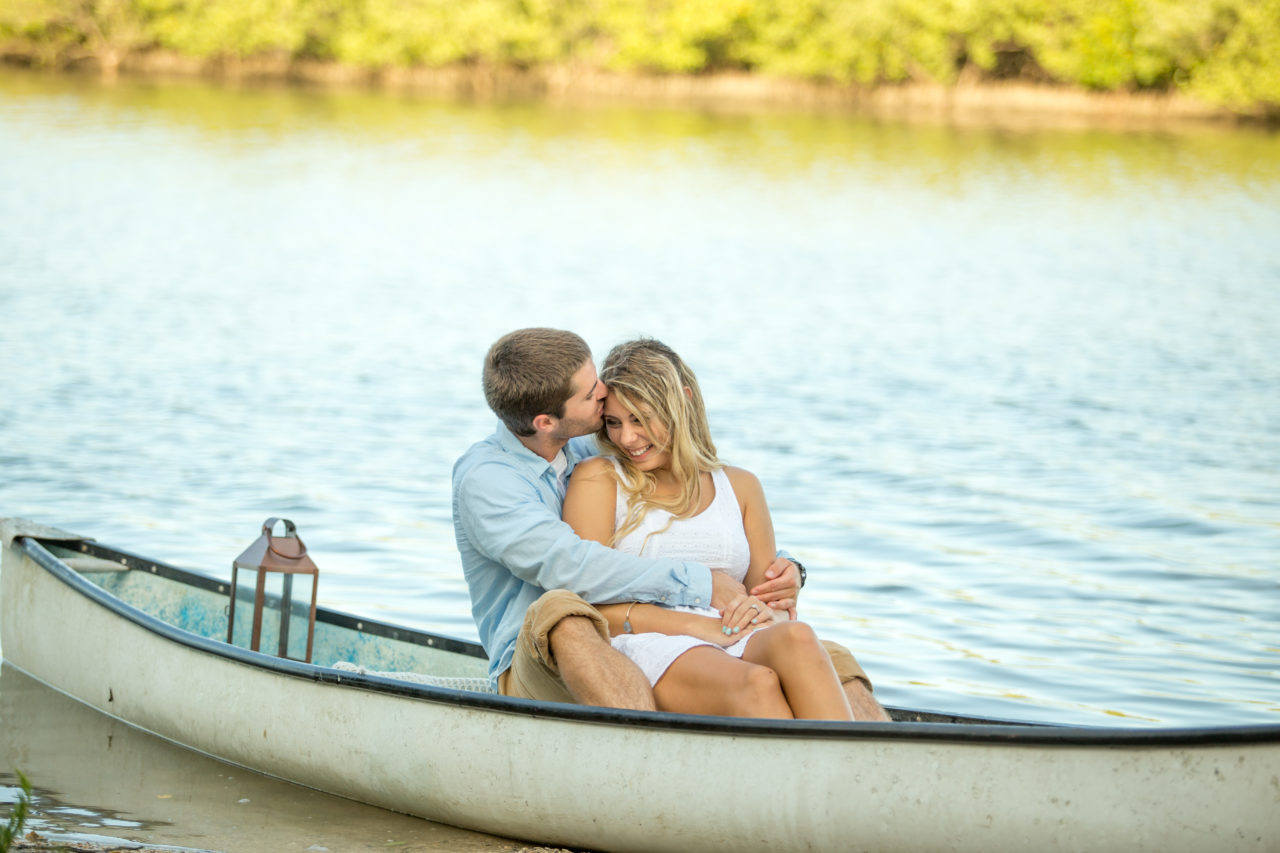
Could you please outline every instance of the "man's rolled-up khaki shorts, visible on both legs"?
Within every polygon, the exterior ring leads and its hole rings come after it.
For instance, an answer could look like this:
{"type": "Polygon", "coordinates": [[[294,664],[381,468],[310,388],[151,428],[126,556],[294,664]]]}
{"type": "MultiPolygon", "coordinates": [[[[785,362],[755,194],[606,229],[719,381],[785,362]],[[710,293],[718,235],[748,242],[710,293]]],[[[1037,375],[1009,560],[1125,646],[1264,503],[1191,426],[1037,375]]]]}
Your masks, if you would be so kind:
{"type": "MultiPolygon", "coordinates": [[[[600,638],[609,642],[609,624],[598,610],[567,589],[552,589],[543,593],[525,612],[525,624],[516,638],[516,653],[511,658],[511,669],[498,676],[498,689],[503,695],[541,702],[573,702],[572,694],[564,686],[556,657],[552,654],[549,635],[552,629],[567,616],[585,616],[595,624],[600,638]]],[[[840,643],[822,640],[836,667],[840,683],[858,679],[872,690],[870,679],[854,658],[854,653],[840,643]]]]}

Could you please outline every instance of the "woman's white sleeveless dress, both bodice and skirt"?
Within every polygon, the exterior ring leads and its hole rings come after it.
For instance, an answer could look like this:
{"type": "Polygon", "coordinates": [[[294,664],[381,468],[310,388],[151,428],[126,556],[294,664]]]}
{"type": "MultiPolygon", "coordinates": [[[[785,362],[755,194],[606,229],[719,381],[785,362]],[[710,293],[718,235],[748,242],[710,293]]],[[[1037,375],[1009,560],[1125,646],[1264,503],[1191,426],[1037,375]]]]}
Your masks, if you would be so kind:
{"type": "MultiPolygon", "coordinates": [[[[611,461],[614,467],[621,465],[617,460],[611,461]]],[[[664,510],[650,510],[640,526],[613,547],[644,557],[672,557],[700,562],[712,569],[727,569],[728,574],[741,581],[751,562],[751,548],[746,542],[746,532],[742,529],[742,510],[737,505],[733,487],[730,485],[728,475],[723,469],[712,471],[712,484],[716,487],[716,497],[710,506],[694,517],[672,521],[671,526],[662,533],[649,535],[655,530],[662,530],[667,519],[671,517],[671,514],[664,510]],[[648,537],[648,542],[645,542],[645,537],[648,537]]],[[[620,484],[614,529],[622,525],[626,514],[626,496],[620,484]]],[[[677,606],[671,610],[719,617],[719,613],[710,607],[677,606]]],[[[636,662],[649,678],[649,684],[657,684],[667,667],[689,649],[698,646],[721,648],[714,643],[692,637],[667,634],[621,634],[614,637],[612,642],[613,648],[636,662]]],[[[733,657],[742,657],[745,648],[746,638],[724,651],[733,657]]]]}

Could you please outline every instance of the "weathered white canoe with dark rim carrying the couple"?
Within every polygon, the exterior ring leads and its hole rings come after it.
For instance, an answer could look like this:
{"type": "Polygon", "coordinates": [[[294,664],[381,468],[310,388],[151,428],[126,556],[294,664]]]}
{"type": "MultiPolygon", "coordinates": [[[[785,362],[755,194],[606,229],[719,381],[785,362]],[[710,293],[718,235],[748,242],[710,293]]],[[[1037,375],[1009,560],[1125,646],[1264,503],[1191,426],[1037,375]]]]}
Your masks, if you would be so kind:
{"type": "Polygon", "coordinates": [[[4,656],[50,686],[236,765],[497,835],[645,853],[1280,848],[1280,725],[536,703],[458,689],[485,671],[472,643],[333,611],[324,665],[228,646],[227,581],[88,540],[15,537],[0,581],[4,656]]]}

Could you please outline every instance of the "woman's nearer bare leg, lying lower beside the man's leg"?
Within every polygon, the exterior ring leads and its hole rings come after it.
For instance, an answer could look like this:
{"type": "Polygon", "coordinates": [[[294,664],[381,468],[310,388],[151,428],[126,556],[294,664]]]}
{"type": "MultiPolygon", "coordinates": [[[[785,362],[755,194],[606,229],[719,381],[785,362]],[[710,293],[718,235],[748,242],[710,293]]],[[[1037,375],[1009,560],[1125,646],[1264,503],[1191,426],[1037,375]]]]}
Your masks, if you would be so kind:
{"type": "Polygon", "coordinates": [[[740,661],[713,646],[698,646],[677,657],[658,679],[653,697],[659,711],[771,720],[792,717],[773,670],[740,661]]]}

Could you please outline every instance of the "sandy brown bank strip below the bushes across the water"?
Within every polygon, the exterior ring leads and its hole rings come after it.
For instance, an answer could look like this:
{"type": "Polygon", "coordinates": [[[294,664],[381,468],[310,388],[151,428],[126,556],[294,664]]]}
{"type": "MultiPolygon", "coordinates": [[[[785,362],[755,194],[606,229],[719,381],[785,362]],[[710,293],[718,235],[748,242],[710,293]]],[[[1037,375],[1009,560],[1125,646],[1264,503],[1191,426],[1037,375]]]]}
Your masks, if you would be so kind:
{"type": "MultiPolygon", "coordinates": [[[[0,55],[10,65],[22,55],[0,55]]],[[[1051,124],[1158,128],[1176,124],[1256,123],[1180,95],[1091,92],[1025,82],[906,83],[874,87],[771,78],[748,73],[621,74],[554,65],[515,69],[492,65],[370,70],[283,56],[200,60],[168,51],[127,56],[110,73],[95,65],[76,73],[146,79],[209,79],[237,86],[294,85],[364,88],[474,100],[539,99],[550,102],[689,105],[716,110],[787,108],[956,124],[1051,124]]]]}

